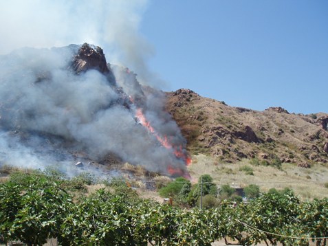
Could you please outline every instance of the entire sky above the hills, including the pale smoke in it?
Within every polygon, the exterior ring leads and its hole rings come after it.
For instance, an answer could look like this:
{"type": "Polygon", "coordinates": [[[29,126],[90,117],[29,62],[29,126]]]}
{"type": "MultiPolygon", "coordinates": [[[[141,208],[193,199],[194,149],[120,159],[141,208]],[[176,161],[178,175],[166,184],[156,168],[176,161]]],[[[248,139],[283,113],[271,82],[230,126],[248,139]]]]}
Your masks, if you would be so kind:
{"type": "Polygon", "coordinates": [[[327,0],[12,0],[0,21],[0,54],[93,43],[166,91],[328,113],[327,0]]]}

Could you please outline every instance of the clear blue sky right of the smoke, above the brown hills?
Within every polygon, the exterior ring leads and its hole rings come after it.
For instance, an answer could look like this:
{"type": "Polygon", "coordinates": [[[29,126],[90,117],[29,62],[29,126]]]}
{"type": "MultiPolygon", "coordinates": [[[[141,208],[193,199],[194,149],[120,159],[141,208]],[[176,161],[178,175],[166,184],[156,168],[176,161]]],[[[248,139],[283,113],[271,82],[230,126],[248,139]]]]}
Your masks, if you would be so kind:
{"type": "Polygon", "coordinates": [[[150,1],[142,35],[171,85],[234,107],[328,113],[327,0],[150,1]]]}

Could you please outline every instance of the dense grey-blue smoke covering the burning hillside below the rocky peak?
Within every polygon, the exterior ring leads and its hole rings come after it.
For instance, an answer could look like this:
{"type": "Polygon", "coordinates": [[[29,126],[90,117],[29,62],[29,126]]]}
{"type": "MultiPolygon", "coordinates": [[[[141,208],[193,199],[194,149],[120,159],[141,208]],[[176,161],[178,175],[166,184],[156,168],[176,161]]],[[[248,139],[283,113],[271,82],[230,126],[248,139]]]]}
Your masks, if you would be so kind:
{"type": "Polygon", "coordinates": [[[0,161],[41,168],[72,165],[74,153],[91,160],[113,153],[151,171],[167,173],[168,165],[184,170],[173,149],[164,148],[135,119],[142,107],[160,135],[184,145],[164,111],[162,93],[145,95],[124,69],[116,71],[117,81],[95,69],[76,74],[70,68],[76,50],[24,48],[0,57],[0,161]],[[129,96],[138,102],[132,104],[129,96]]]}

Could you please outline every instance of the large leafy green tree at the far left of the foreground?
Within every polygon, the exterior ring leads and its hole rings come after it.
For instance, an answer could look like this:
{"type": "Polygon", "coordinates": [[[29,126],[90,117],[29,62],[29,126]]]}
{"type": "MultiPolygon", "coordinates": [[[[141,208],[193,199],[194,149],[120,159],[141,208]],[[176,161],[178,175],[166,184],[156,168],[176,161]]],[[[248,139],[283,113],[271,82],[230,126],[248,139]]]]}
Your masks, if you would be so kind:
{"type": "Polygon", "coordinates": [[[66,208],[72,204],[58,183],[44,177],[33,177],[25,186],[5,183],[0,199],[0,234],[28,245],[43,245],[47,238],[58,237],[66,208]]]}

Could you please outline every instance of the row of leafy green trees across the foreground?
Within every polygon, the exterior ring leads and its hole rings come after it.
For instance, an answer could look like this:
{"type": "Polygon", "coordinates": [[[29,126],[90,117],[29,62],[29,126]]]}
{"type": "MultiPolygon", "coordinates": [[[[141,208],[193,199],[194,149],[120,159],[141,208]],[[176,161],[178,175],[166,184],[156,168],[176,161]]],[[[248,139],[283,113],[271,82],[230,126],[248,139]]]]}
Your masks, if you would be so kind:
{"type": "MultiPolygon", "coordinates": [[[[300,202],[291,190],[271,190],[237,207],[223,200],[217,208],[185,210],[139,199],[118,179],[78,199],[66,182],[60,175],[38,174],[1,184],[1,241],[42,245],[46,238],[58,238],[61,245],[210,245],[229,237],[241,245],[308,245],[306,238],[328,237],[328,199],[300,202]]],[[[327,243],[323,238],[316,242],[327,243]]]]}

